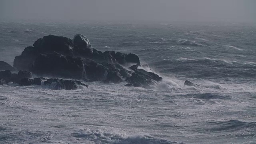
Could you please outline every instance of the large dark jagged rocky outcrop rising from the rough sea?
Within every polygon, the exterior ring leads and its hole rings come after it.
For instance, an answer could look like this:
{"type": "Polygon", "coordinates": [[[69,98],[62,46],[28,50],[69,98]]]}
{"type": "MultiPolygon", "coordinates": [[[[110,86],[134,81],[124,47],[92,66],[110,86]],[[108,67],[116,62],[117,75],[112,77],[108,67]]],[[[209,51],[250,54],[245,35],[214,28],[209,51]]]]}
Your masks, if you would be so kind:
{"type": "Polygon", "coordinates": [[[44,81],[44,84],[50,84],[54,89],[69,90],[76,89],[77,85],[87,85],[80,81],[56,78],[113,83],[120,83],[125,79],[133,86],[144,88],[162,80],[157,74],[146,71],[150,70],[148,65],[143,65],[146,70],[140,69],[140,66],[140,59],[136,54],[100,52],[92,48],[89,40],[82,34],[76,34],[73,40],[49,35],[36,40],[33,46],[26,47],[20,56],[16,56],[14,68],[53,79],[32,79],[31,73],[27,77],[12,74],[12,82],[40,85],[44,81]]]}

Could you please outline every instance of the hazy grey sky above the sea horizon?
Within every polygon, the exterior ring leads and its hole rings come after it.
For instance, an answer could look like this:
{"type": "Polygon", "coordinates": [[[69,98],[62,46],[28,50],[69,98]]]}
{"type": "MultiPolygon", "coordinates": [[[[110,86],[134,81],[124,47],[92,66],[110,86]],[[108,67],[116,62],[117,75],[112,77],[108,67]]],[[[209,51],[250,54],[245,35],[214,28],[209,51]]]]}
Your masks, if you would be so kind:
{"type": "Polygon", "coordinates": [[[0,0],[0,19],[256,22],[256,0],[0,0]]]}

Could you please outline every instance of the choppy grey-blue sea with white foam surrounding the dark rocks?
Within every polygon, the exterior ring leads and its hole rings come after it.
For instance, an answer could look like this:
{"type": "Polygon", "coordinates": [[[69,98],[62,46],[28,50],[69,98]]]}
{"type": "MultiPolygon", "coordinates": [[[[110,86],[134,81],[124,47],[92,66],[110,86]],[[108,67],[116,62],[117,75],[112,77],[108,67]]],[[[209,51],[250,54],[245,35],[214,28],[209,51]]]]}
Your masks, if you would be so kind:
{"type": "Polygon", "coordinates": [[[255,25],[0,22],[0,60],[78,33],[97,50],[137,54],[163,82],[0,86],[1,144],[256,144],[255,25]]]}

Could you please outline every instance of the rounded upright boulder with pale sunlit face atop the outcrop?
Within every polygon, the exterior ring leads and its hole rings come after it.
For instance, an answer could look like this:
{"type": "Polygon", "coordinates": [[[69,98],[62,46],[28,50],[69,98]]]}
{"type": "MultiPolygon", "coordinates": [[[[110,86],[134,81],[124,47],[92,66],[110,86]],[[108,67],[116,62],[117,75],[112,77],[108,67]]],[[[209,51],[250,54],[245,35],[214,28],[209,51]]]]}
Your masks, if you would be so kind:
{"type": "Polygon", "coordinates": [[[76,52],[83,55],[91,55],[93,53],[89,40],[82,34],[76,34],[73,38],[76,52]]]}

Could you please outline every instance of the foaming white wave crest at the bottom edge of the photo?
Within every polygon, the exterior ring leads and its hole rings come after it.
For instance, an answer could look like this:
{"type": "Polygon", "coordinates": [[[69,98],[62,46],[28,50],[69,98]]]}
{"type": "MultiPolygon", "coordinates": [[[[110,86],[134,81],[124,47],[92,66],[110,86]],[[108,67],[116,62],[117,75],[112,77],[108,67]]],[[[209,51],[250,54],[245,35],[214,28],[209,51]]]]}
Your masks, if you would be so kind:
{"type": "MultiPolygon", "coordinates": [[[[128,136],[119,132],[108,132],[107,130],[78,130],[71,134],[75,138],[84,138],[86,140],[96,141],[105,144],[178,144],[168,140],[154,138],[147,135],[128,136]]],[[[179,143],[179,144],[184,144],[179,143]]]]}

